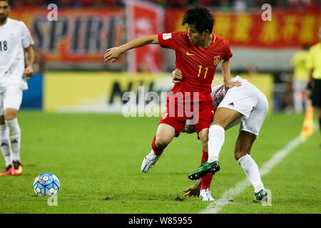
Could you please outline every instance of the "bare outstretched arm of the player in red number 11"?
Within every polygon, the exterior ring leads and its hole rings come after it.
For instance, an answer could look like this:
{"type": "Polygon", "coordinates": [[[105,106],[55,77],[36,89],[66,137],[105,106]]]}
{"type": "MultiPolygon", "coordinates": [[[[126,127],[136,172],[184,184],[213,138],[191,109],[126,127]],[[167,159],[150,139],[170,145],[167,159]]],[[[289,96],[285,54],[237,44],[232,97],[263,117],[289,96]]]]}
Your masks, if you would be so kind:
{"type": "Polygon", "coordinates": [[[125,51],[131,50],[133,48],[146,46],[148,44],[158,44],[158,35],[143,36],[141,38],[136,38],[133,41],[125,43],[122,46],[109,48],[106,50],[105,56],[103,56],[103,60],[105,62],[111,61],[111,63],[113,63],[118,58],[120,58],[121,54],[124,53],[125,51]]]}

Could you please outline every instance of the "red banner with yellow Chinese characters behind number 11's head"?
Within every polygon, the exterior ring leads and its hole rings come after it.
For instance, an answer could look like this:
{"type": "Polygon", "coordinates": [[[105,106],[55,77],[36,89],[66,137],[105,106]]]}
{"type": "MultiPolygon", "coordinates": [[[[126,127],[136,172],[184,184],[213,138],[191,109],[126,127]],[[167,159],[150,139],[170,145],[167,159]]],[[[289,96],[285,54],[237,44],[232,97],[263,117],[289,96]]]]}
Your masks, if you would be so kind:
{"type": "MultiPolygon", "coordinates": [[[[261,12],[212,12],[214,33],[233,46],[257,48],[297,48],[302,43],[317,43],[321,11],[272,11],[272,21],[263,21],[261,12]]],[[[184,10],[168,9],[165,31],[184,30],[184,10]]]]}

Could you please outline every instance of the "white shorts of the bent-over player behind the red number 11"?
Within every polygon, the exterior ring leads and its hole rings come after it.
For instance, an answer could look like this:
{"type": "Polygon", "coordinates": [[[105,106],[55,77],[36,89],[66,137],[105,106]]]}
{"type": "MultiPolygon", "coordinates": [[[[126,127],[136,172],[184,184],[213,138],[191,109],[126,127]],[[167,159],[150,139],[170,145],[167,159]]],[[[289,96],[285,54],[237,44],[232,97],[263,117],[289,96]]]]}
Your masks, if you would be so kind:
{"type": "Polygon", "coordinates": [[[230,108],[242,114],[228,128],[240,124],[240,131],[253,133],[258,137],[268,111],[265,95],[253,84],[242,82],[242,86],[230,88],[218,108],[230,108]]]}

